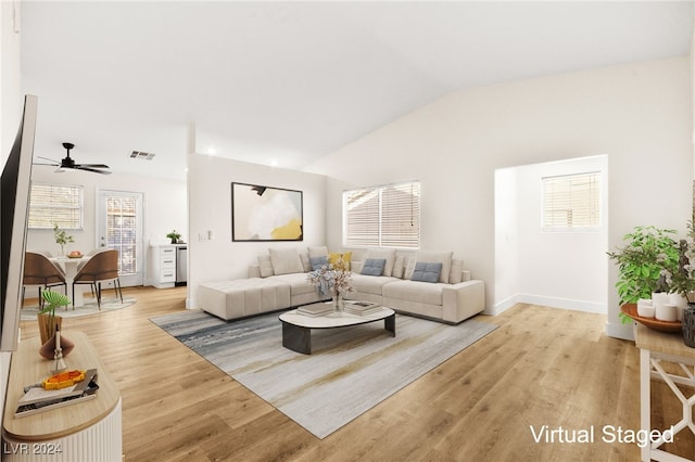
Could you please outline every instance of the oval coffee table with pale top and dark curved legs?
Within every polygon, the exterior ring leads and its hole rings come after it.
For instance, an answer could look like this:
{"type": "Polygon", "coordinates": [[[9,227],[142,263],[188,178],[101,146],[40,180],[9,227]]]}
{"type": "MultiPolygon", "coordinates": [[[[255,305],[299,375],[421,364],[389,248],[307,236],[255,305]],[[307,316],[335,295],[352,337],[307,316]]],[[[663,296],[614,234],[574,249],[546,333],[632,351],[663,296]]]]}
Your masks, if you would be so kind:
{"type": "Polygon", "coordinates": [[[380,311],[366,316],[350,312],[330,312],[317,317],[291,310],[280,315],[282,321],[282,346],[304,355],[312,354],[312,329],[337,329],[367,324],[383,320],[383,329],[395,337],[395,311],[381,307],[380,311]]]}

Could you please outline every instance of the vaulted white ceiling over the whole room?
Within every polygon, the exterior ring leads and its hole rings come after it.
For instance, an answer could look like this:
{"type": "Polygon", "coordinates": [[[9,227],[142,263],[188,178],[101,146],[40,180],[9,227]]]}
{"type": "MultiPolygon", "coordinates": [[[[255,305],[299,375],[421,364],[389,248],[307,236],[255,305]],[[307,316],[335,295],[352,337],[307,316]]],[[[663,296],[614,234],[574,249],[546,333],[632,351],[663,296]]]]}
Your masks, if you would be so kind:
{"type": "Polygon", "coordinates": [[[458,89],[687,54],[693,4],[28,1],[21,17],[36,155],[70,141],[78,163],[182,179],[189,124],[200,153],[301,168],[458,89]]]}

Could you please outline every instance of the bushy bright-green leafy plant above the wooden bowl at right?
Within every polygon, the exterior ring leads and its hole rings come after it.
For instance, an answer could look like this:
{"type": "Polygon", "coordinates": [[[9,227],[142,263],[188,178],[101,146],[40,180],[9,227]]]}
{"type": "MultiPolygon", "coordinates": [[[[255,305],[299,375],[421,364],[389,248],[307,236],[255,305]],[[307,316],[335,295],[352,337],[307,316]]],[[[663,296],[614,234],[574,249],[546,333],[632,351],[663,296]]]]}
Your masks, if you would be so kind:
{"type": "Polygon", "coordinates": [[[624,245],[608,253],[620,272],[616,288],[621,305],[652,298],[653,292],[668,292],[666,274],[674,272],[679,262],[673,234],[674,230],[635,227],[623,236],[624,245]]]}

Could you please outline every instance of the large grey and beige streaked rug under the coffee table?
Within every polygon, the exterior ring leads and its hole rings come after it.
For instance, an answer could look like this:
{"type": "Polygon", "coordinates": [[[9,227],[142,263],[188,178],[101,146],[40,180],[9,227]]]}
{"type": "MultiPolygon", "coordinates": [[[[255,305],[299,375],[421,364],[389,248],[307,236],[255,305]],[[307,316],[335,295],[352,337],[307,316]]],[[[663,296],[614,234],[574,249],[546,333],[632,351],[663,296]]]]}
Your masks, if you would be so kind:
{"type": "Polygon", "coordinates": [[[446,325],[396,315],[383,322],[312,332],[312,355],[282,347],[278,313],[225,322],[204,311],[151,319],[318,438],[325,438],[495,325],[446,325]]]}

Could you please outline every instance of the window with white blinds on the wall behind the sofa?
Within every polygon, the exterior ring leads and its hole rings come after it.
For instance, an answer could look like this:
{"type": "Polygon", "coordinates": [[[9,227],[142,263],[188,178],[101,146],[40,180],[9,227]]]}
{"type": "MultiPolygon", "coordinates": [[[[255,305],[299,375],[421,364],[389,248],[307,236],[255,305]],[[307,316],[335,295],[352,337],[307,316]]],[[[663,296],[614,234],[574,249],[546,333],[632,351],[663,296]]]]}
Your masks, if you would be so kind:
{"type": "Polygon", "coordinates": [[[343,192],[343,245],[420,247],[420,182],[343,192]]]}

